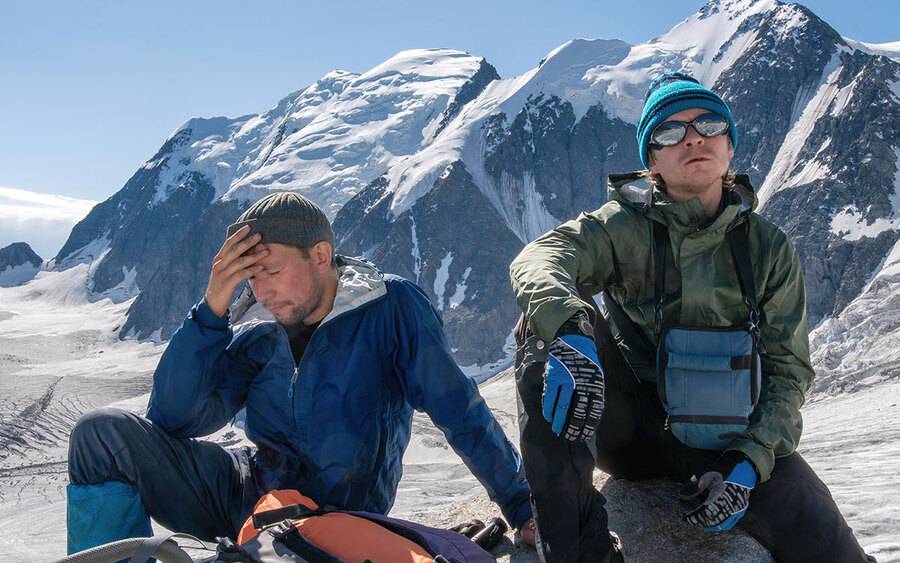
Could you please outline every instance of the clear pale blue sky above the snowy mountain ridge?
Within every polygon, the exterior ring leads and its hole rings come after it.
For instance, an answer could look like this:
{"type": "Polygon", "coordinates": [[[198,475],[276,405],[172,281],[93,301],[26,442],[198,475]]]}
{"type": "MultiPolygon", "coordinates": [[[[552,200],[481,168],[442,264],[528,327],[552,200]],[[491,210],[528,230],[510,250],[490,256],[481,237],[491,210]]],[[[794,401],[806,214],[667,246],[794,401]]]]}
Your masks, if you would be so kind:
{"type": "MultiPolygon", "coordinates": [[[[450,47],[508,77],[574,37],[646,41],[703,4],[3,2],[0,186],[103,200],[188,118],[264,111],[336,68],[450,47]]],[[[842,35],[900,40],[896,0],[804,4],[842,35]]]]}

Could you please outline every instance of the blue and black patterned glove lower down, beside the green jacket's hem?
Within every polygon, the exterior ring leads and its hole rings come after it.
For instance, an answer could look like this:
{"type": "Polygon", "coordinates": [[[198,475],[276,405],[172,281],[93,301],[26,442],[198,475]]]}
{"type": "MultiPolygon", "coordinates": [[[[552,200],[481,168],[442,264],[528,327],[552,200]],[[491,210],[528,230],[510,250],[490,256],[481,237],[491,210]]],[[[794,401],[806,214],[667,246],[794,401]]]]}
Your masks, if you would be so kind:
{"type": "Polygon", "coordinates": [[[755,486],[753,464],[740,452],[725,452],[715,469],[699,479],[694,476],[682,491],[682,500],[699,503],[685,513],[684,519],[705,532],[730,530],[747,512],[755,486]]]}

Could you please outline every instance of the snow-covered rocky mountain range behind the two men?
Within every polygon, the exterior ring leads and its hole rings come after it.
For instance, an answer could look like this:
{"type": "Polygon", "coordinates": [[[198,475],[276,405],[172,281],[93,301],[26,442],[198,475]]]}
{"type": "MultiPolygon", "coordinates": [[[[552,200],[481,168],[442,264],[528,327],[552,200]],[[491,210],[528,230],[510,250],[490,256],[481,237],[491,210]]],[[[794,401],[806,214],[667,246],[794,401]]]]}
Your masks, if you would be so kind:
{"type": "Polygon", "coordinates": [[[576,39],[508,79],[466,53],[403,52],[260,115],[188,121],[73,230],[57,268],[90,262],[93,291],[137,296],[122,335],[165,339],[202,294],[225,225],[295,190],[334,218],[339,252],[417,281],[478,371],[507,357],[510,260],[601,205],[608,173],[639,167],[647,86],[685,70],[731,103],[735,168],[796,244],[818,323],[898,239],[897,52],[778,0],[711,0],[640,45],[576,39]]]}

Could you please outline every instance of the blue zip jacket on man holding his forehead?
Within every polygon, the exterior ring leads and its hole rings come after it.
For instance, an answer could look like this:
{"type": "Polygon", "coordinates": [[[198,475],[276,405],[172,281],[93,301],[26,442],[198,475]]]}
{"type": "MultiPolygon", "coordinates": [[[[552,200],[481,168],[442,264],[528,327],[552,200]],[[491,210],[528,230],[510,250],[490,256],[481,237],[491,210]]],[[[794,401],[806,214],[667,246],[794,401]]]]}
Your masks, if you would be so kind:
{"type": "Polygon", "coordinates": [[[257,456],[266,489],[386,514],[413,409],[423,410],[521,526],[531,517],[521,458],[454,362],[428,298],[365,262],[339,258],[339,267],[334,308],[296,364],[287,332],[260,305],[244,315],[256,318],[232,325],[201,301],[160,360],[148,418],[187,438],[246,407],[247,437],[266,454],[257,456]]]}

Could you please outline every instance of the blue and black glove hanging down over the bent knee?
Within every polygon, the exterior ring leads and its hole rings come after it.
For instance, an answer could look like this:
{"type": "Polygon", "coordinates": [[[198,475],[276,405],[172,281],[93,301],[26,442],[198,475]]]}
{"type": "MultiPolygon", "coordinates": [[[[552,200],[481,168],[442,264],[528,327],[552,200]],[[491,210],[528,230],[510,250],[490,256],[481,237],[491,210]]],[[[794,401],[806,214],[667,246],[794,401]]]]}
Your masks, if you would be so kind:
{"type": "Polygon", "coordinates": [[[544,420],[567,440],[589,440],[603,415],[603,368],[593,338],[563,334],[547,348],[544,420]]]}

